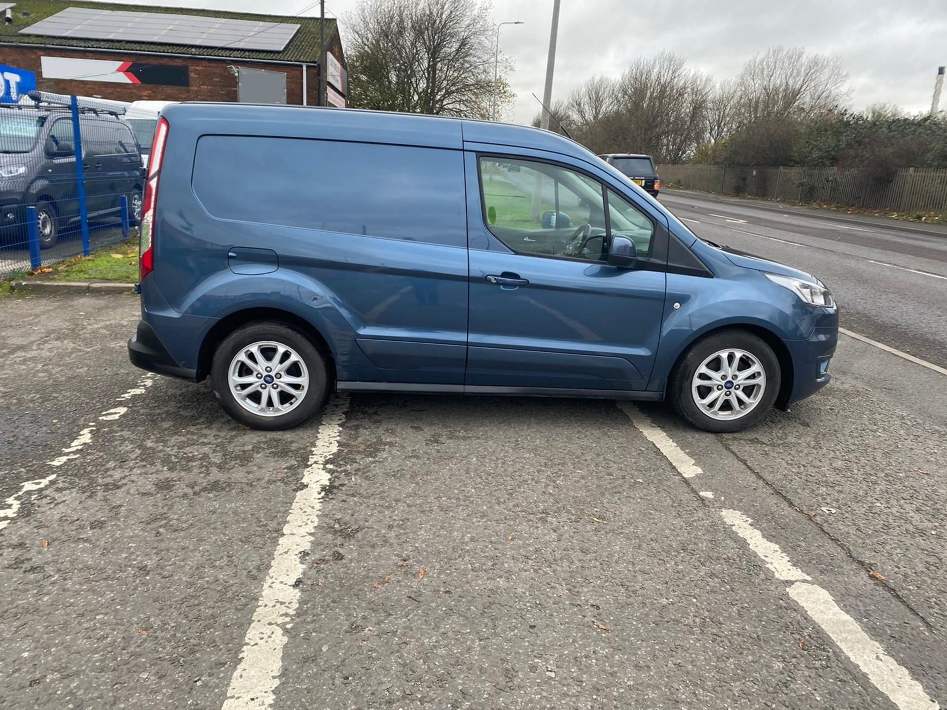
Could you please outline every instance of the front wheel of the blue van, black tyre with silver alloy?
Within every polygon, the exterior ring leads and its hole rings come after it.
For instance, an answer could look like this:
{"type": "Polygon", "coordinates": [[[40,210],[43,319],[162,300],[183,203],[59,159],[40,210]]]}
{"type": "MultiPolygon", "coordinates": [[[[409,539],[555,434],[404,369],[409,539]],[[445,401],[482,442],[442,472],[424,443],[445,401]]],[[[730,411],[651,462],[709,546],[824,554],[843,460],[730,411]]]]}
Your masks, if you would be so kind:
{"type": "Polygon", "coordinates": [[[677,413],[706,432],[741,432],[769,414],[779,394],[773,348],[745,330],[724,330],[688,348],[668,383],[677,413]]]}

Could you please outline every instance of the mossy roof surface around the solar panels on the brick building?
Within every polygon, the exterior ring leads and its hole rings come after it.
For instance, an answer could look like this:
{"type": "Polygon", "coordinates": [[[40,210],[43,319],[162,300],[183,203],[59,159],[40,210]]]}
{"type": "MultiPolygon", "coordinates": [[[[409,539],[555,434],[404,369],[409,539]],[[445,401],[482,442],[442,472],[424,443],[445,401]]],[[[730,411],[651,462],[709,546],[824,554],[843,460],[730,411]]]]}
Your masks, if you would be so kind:
{"type": "MultiPolygon", "coordinates": [[[[0,24],[0,43],[23,44],[24,46],[72,46],[95,49],[114,49],[126,52],[168,52],[170,54],[194,54],[205,57],[233,59],[269,60],[271,62],[318,62],[319,24],[318,17],[286,15],[259,15],[249,12],[227,12],[219,9],[158,8],[151,5],[124,5],[117,3],[71,2],[70,0],[16,0],[12,8],[13,22],[0,24]],[[45,37],[43,35],[20,34],[20,30],[44,20],[66,8],[121,9],[137,12],[160,12],[203,17],[222,17],[233,20],[255,20],[262,22],[292,22],[299,26],[295,36],[281,52],[264,52],[230,47],[187,46],[183,44],[160,44],[154,42],[119,42],[115,40],[86,40],[78,37],[45,37]],[[24,13],[27,13],[25,16],[24,13]]],[[[335,20],[326,18],[326,42],[335,30],[335,20]]]]}

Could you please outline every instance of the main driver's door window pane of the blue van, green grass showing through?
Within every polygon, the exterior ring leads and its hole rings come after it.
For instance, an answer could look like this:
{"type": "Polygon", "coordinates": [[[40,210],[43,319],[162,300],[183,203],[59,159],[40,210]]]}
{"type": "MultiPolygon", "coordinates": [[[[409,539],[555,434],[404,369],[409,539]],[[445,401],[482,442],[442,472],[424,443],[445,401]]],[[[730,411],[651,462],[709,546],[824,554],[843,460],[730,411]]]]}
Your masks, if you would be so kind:
{"type": "Polygon", "coordinates": [[[601,185],[540,161],[480,158],[484,220],[518,254],[605,261],[601,185]]]}

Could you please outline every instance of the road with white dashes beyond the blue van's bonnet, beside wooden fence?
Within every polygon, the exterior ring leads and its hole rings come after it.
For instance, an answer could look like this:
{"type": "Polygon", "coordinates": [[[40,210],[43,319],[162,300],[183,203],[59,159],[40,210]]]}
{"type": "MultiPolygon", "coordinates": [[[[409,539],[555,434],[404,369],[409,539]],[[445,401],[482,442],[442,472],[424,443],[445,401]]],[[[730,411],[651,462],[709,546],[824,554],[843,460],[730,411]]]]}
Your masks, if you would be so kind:
{"type": "Polygon", "coordinates": [[[947,227],[683,190],[660,199],[699,237],[821,278],[844,328],[947,367],[947,227]]]}

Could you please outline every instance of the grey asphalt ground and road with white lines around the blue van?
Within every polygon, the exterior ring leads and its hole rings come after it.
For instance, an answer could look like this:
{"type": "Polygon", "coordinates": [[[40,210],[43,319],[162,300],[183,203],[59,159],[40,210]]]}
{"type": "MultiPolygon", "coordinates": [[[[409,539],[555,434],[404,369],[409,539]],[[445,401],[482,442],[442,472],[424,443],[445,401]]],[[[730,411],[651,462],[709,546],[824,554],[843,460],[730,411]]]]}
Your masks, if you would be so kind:
{"type": "MultiPolygon", "coordinates": [[[[947,364],[947,284],[873,263],[947,275],[937,235],[662,200],[947,364]]],[[[739,435],[381,396],[267,434],[134,370],[136,312],[0,300],[2,708],[947,702],[947,375],[846,336],[831,386],[739,435]]]]}

